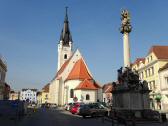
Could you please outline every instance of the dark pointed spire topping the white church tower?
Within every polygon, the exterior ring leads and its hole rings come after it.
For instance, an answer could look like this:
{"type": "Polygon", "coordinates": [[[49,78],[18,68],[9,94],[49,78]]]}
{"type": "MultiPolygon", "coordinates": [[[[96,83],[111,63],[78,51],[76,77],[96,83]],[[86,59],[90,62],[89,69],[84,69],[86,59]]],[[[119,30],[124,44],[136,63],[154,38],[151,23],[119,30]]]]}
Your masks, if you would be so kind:
{"type": "Polygon", "coordinates": [[[60,41],[63,42],[64,46],[69,46],[69,42],[72,42],[72,36],[69,29],[68,7],[66,7],[65,9],[64,27],[61,31],[60,41]]]}

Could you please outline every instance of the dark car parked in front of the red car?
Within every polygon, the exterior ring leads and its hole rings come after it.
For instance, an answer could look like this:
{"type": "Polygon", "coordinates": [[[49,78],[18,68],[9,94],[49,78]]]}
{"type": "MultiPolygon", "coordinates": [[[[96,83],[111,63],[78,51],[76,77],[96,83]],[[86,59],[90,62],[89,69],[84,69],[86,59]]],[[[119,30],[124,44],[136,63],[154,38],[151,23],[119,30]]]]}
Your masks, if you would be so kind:
{"type": "Polygon", "coordinates": [[[85,104],[80,108],[79,115],[85,118],[86,116],[97,117],[108,114],[107,108],[101,104],[85,104]]]}

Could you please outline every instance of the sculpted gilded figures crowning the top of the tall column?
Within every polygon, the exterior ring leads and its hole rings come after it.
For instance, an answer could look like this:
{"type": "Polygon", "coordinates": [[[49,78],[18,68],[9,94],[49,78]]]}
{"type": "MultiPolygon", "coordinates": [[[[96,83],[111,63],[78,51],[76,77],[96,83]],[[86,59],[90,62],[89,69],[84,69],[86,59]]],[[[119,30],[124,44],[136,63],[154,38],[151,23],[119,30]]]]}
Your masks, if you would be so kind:
{"type": "Polygon", "coordinates": [[[123,10],[121,12],[121,27],[120,32],[122,34],[130,33],[132,30],[131,22],[130,22],[130,14],[128,10],[123,10]]]}

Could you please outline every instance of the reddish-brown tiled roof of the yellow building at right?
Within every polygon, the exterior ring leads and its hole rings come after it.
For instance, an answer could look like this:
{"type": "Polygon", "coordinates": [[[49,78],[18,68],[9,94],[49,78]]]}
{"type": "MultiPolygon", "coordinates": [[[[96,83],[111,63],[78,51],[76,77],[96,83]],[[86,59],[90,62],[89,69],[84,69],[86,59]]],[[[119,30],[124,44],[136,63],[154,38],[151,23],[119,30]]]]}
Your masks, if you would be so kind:
{"type": "Polygon", "coordinates": [[[151,52],[153,52],[158,59],[168,59],[168,46],[152,46],[149,50],[149,53],[151,52]]]}

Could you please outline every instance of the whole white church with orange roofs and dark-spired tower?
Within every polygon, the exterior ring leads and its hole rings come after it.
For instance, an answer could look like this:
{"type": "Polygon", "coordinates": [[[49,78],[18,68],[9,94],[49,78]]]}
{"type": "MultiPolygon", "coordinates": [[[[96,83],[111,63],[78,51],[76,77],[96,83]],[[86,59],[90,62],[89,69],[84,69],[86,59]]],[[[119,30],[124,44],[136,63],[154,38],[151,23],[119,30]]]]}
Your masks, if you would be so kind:
{"type": "Polygon", "coordinates": [[[79,49],[73,51],[67,9],[58,43],[57,73],[50,82],[49,97],[49,102],[57,105],[102,101],[102,87],[93,79],[79,49]]]}

